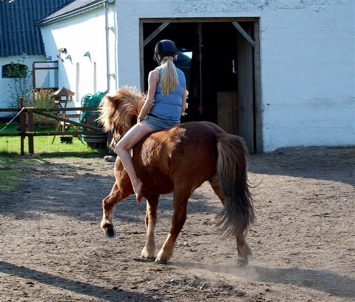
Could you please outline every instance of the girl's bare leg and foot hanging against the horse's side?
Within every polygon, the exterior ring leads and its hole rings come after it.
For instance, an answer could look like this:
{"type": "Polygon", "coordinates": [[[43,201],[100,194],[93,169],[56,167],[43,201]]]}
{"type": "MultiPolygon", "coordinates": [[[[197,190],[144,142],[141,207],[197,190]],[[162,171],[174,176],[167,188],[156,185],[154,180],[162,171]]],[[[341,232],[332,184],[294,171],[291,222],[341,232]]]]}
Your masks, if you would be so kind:
{"type": "Polygon", "coordinates": [[[140,203],[142,198],[141,191],[143,183],[138,179],[135,167],[133,165],[132,157],[129,151],[148,133],[153,132],[153,129],[148,126],[145,121],[138,122],[134,125],[124,137],[118,141],[115,150],[126,169],[133,186],[133,190],[136,194],[136,201],[140,203]]]}

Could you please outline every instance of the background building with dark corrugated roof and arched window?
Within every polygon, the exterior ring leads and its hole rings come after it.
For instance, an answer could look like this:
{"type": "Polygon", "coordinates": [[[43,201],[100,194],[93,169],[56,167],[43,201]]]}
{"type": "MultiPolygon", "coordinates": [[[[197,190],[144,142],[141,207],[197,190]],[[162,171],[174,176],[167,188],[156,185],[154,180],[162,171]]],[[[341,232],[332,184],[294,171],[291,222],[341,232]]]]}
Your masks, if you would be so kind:
{"type": "MultiPolygon", "coordinates": [[[[23,91],[27,91],[29,95],[33,86],[33,62],[47,61],[41,33],[35,22],[70,1],[73,0],[0,1],[0,108],[17,106],[17,96],[23,96],[23,91]],[[21,68],[26,69],[27,77],[21,80],[14,74],[9,77],[11,63],[19,63],[21,68]],[[16,89],[14,82],[17,87],[21,82],[21,89],[16,89]]],[[[57,60],[57,57],[53,59],[57,60]]],[[[53,77],[51,81],[45,81],[48,78],[44,79],[40,72],[38,80],[38,84],[52,84],[46,87],[56,88],[58,85],[53,77]]],[[[1,112],[0,118],[7,115],[11,113],[1,112]]]]}

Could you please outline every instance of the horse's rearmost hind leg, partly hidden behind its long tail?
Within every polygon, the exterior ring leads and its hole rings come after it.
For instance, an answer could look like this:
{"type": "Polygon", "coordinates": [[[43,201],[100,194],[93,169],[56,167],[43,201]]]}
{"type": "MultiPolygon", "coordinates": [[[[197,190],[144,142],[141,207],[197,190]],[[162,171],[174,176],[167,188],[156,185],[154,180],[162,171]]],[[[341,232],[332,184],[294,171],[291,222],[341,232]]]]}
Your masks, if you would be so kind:
{"type": "MultiPolygon", "coordinates": [[[[216,195],[222,201],[224,205],[224,196],[219,187],[219,181],[217,174],[209,181],[212,189],[215,191],[216,195]]],[[[250,248],[248,242],[245,241],[245,234],[237,234],[237,251],[238,251],[238,259],[237,266],[243,267],[249,263],[249,256],[252,257],[252,249],[250,248]]]]}

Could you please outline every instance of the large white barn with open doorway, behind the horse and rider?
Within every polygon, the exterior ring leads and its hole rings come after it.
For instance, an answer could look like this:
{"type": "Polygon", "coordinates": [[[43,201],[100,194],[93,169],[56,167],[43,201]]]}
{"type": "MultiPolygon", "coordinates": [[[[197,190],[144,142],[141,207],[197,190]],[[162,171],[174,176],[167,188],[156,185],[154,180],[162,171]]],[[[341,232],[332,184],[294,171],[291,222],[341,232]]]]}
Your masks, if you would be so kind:
{"type": "Polygon", "coordinates": [[[170,39],[186,59],[183,121],[216,122],[257,152],[355,145],[352,0],[76,0],[39,26],[47,56],[70,55],[59,87],[75,105],[123,85],[145,91],[154,46],[170,39]]]}

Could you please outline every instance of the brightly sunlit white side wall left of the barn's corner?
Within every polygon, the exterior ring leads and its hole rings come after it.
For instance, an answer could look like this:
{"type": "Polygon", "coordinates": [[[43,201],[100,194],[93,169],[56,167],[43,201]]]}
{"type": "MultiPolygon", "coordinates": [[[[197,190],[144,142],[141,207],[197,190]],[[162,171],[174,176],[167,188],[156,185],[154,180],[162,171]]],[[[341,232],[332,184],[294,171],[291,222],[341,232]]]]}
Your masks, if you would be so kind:
{"type": "MultiPolygon", "coordinates": [[[[115,28],[114,6],[109,6],[108,19],[109,27],[115,28]]],[[[64,61],[59,60],[58,78],[59,88],[64,86],[75,93],[73,97],[75,101],[70,106],[79,107],[82,96],[107,89],[104,8],[74,19],[41,27],[41,33],[46,55],[52,56],[52,60],[58,59],[59,48],[67,49],[67,54],[62,55],[64,61]],[[91,60],[84,57],[88,51],[91,60]],[[71,60],[65,59],[68,55],[71,56],[71,60]]],[[[109,30],[110,74],[115,74],[116,70],[115,39],[114,31],[109,30]]],[[[114,77],[111,77],[110,92],[114,92],[116,88],[116,81],[114,77]]]]}

